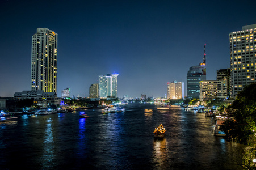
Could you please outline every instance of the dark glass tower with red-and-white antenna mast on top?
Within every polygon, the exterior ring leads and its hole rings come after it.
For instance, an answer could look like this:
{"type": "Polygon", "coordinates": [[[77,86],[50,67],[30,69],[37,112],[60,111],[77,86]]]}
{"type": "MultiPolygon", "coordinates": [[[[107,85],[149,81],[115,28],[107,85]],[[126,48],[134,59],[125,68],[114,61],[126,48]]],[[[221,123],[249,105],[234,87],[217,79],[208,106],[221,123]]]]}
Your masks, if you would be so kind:
{"type": "Polygon", "coordinates": [[[200,86],[199,82],[206,80],[206,53],[204,44],[204,57],[203,62],[198,66],[190,67],[187,72],[187,98],[199,99],[200,98],[200,86]]]}

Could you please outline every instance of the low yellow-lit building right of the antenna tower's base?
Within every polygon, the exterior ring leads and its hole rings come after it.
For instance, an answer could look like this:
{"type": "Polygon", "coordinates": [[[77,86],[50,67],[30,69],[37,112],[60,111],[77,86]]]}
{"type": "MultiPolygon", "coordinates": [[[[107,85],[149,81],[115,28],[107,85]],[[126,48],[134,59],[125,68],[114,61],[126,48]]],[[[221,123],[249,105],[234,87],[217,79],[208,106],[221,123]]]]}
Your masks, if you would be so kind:
{"type": "Polygon", "coordinates": [[[217,94],[218,94],[217,80],[204,80],[199,82],[199,86],[200,86],[201,101],[217,98],[217,94]]]}

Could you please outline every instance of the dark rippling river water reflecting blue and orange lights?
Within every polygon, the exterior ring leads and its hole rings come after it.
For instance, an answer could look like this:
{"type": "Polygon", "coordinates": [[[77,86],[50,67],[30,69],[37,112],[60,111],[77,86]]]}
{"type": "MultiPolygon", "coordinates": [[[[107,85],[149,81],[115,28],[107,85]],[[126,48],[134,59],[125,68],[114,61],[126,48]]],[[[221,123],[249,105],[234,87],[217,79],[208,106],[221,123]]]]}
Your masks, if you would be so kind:
{"type": "Polygon", "coordinates": [[[213,135],[211,117],[155,108],[129,104],[120,113],[88,109],[87,118],[77,111],[1,122],[0,169],[240,169],[237,146],[213,135]],[[160,124],[166,137],[156,140],[160,124]]]}

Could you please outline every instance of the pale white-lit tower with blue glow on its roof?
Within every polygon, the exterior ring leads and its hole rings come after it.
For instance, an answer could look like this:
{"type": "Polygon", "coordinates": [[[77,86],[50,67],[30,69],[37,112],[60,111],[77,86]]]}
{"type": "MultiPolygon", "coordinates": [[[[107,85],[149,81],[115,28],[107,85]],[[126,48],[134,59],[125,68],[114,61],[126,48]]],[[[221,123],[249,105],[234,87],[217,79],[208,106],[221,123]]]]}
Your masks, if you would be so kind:
{"type": "Polygon", "coordinates": [[[118,74],[99,75],[99,97],[117,97],[118,74]]]}

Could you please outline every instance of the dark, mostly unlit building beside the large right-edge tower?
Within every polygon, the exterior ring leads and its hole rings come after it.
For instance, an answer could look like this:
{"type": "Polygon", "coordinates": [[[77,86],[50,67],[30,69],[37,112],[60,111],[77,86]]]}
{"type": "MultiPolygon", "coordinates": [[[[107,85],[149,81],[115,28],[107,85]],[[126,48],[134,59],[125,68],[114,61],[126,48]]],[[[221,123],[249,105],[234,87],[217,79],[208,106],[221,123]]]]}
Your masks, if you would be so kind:
{"type": "Polygon", "coordinates": [[[220,99],[230,98],[230,69],[217,70],[218,94],[220,99]]]}

